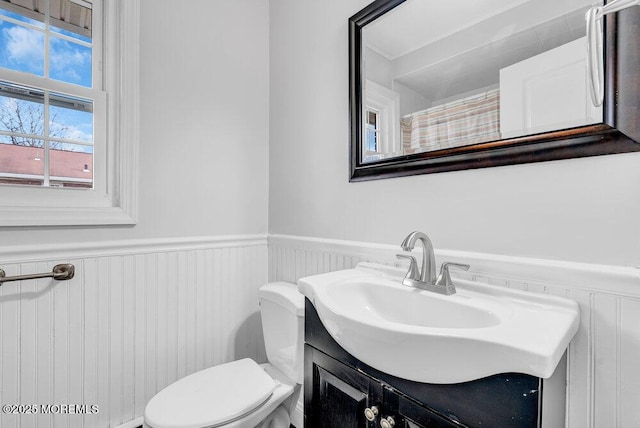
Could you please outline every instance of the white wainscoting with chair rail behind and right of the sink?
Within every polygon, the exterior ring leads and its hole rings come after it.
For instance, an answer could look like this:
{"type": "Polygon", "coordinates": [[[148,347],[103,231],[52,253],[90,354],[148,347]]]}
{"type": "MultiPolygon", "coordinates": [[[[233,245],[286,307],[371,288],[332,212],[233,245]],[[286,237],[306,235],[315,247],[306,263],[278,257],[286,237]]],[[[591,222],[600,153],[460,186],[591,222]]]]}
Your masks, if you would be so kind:
{"type": "MultiPolygon", "coordinates": [[[[392,245],[272,235],[269,279],[295,282],[361,261],[397,265],[398,252],[392,245]]],[[[454,277],[575,300],[581,324],[568,352],[565,426],[640,427],[639,269],[436,251],[436,262],[443,261],[471,265],[454,277]]]]}

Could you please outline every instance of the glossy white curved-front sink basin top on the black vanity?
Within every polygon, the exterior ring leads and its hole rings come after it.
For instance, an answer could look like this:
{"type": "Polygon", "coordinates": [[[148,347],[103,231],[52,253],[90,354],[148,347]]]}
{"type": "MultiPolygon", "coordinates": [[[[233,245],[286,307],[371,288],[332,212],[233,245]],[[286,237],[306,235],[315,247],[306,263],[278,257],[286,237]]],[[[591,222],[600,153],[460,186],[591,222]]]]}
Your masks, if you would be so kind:
{"type": "Polygon", "coordinates": [[[548,378],[578,329],[578,305],[568,299],[462,280],[444,296],[403,285],[404,273],[360,264],[301,278],[298,288],[345,350],[419,382],[548,378]]]}

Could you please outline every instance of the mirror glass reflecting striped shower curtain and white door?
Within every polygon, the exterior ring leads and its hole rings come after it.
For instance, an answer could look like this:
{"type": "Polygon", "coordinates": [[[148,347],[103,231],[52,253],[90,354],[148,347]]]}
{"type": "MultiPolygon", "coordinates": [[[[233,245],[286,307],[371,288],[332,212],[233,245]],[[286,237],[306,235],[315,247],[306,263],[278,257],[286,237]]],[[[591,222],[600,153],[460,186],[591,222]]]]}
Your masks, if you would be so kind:
{"type": "Polygon", "coordinates": [[[603,122],[589,94],[596,0],[407,0],[362,32],[362,158],[603,122]]]}

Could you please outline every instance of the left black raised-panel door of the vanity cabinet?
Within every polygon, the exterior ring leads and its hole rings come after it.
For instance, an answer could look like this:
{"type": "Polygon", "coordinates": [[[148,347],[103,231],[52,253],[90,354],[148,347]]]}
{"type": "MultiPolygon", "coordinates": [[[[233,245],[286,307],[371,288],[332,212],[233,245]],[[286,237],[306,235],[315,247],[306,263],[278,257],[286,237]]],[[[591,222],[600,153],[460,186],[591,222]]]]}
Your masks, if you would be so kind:
{"type": "Polygon", "coordinates": [[[305,365],[305,428],[375,426],[365,410],[380,405],[379,382],[308,345],[305,365]]]}

